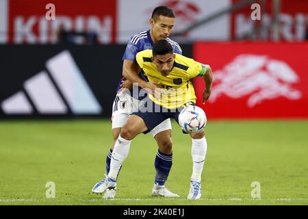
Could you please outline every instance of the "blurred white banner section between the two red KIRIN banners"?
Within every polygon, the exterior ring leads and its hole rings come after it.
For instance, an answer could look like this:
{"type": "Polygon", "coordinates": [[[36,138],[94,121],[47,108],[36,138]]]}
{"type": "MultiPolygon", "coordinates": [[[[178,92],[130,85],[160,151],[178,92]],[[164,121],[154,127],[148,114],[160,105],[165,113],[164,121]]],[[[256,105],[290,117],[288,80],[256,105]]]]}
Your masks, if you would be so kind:
{"type": "MultiPolygon", "coordinates": [[[[231,0],[118,0],[117,42],[126,43],[133,34],[150,29],[149,19],[153,9],[167,5],[175,12],[174,32],[181,31],[192,23],[200,21],[231,5],[231,0]]],[[[189,40],[229,40],[231,19],[224,14],[209,23],[190,31],[189,40]]]]}

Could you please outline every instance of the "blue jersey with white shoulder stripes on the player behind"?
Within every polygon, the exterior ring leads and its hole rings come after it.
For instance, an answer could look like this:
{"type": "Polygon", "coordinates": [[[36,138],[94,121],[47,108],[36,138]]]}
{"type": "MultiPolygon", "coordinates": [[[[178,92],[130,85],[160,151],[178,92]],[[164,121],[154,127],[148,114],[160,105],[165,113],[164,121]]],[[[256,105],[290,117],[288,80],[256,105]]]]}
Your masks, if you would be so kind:
{"type": "MultiPolygon", "coordinates": [[[[177,42],[170,40],[169,38],[166,38],[166,40],[171,44],[175,53],[182,55],[182,49],[179,44],[177,44],[177,42]]],[[[129,39],[122,60],[135,61],[137,53],[146,49],[153,49],[153,40],[151,38],[149,30],[142,31],[129,39]]],[[[140,72],[139,77],[146,80],[146,77],[142,74],[142,72],[140,72]]],[[[120,90],[121,83],[122,79],[120,79],[120,82],[118,83],[118,88],[116,88],[116,92],[120,90]]]]}

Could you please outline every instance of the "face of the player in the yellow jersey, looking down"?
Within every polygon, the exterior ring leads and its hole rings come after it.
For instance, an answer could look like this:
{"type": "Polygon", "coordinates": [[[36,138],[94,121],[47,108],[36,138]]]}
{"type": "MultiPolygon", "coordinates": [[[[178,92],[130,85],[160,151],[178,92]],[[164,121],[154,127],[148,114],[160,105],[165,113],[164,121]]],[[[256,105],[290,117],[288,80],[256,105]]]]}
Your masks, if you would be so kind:
{"type": "Polygon", "coordinates": [[[175,54],[167,53],[166,55],[155,55],[152,57],[152,62],[163,76],[167,76],[170,74],[173,64],[175,63],[175,54]]]}

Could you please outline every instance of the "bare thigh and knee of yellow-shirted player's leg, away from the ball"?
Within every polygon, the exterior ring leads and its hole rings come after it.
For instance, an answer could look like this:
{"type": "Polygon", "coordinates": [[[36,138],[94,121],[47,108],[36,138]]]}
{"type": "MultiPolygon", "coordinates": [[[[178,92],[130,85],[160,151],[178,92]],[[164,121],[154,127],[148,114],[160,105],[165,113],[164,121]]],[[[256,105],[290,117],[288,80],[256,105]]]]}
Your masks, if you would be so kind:
{"type": "Polygon", "coordinates": [[[121,129],[120,136],[127,140],[132,140],[139,133],[147,131],[148,128],[144,123],[144,120],[140,116],[131,115],[127,123],[121,129]]]}

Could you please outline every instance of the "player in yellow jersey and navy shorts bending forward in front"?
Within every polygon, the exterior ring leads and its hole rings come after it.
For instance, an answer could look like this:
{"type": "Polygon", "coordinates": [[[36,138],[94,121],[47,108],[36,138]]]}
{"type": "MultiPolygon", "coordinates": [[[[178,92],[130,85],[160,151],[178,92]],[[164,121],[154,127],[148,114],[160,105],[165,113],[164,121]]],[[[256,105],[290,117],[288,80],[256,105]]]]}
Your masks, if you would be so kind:
{"type": "MultiPolygon", "coordinates": [[[[120,136],[114,145],[110,172],[104,183],[105,189],[116,186],[118,172],[126,159],[131,140],[139,133],[147,133],[167,118],[175,118],[178,123],[179,113],[183,107],[194,105],[196,96],[190,79],[204,77],[205,90],[203,103],[211,94],[213,75],[209,65],[201,64],[183,55],[173,53],[171,45],[166,40],[159,40],[152,50],[140,51],[136,62],[149,79],[143,81],[137,75],[124,75],[141,88],[148,90],[149,100],[134,112],[126,125],[121,129],[120,136]]],[[[139,70],[136,70],[139,72],[139,70]]],[[[205,162],[207,142],[203,130],[190,133],[192,137],[193,172],[190,181],[189,199],[201,197],[201,173],[205,162]]],[[[168,157],[162,157],[168,162],[168,157]]]]}

